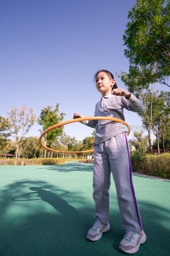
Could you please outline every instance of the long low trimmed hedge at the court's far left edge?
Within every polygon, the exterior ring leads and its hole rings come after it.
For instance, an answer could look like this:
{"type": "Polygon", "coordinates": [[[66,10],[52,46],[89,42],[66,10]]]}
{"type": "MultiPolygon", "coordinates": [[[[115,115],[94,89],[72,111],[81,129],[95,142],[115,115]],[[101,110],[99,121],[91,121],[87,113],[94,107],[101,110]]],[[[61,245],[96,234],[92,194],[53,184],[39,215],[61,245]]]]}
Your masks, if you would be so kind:
{"type": "Polygon", "coordinates": [[[64,164],[63,158],[0,159],[0,165],[51,165],[64,164]]]}

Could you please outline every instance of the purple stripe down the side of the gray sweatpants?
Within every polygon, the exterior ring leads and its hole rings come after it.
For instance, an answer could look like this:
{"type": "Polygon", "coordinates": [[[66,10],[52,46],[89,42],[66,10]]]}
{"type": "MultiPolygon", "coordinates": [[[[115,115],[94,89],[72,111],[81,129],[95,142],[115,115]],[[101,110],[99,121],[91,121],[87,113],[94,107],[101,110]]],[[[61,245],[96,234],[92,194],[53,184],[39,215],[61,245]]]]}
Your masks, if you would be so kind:
{"type": "Polygon", "coordinates": [[[134,190],[133,183],[132,183],[131,156],[130,156],[130,152],[129,152],[129,144],[128,144],[128,140],[127,140],[127,137],[126,137],[126,132],[124,132],[124,135],[125,135],[125,138],[126,138],[126,145],[127,145],[127,150],[128,150],[128,156],[129,156],[129,174],[130,174],[130,182],[131,182],[131,191],[132,191],[132,195],[133,195],[133,199],[134,199],[134,203],[135,203],[135,208],[136,208],[136,213],[137,213],[137,217],[138,217],[140,230],[142,230],[142,223],[141,223],[141,220],[140,220],[138,204],[137,204],[137,201],[136,201],[135,190],[134,190]]]}

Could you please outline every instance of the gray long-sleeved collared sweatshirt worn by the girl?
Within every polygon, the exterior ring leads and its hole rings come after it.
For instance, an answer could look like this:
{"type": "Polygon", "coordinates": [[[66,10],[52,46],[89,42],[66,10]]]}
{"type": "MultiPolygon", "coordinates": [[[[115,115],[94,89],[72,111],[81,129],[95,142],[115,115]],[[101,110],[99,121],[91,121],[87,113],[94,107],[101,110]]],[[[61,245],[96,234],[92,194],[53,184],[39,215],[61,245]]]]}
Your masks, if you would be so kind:
{"type": "MultiPolygon", "coordinates": [[[[101,97],[101,100],[97,102],[94,116],[108,116],[119,118],[125,121],[123,108],[138,113],[144,110],[142,102],[138,100],[133,94],[131,94],[130,99],[127,99],[125,97],[115,96],[109,93],[105,97],[101,97]]],[[[80,123],[85,124],[91,128],[96,128],[95,144],[109,140],[111,137],[124,132],[120,128],[120,125],[122,127],[122,124],[114,121],[87,120],[81,121],[80,123]]]]}

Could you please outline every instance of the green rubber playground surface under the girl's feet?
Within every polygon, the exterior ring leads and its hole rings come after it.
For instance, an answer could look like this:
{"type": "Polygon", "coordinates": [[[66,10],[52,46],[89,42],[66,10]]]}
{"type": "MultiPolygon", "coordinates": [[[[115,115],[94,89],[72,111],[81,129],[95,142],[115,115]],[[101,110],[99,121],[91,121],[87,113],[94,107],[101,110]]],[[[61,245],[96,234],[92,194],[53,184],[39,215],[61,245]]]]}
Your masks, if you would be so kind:
{"type": "MultiPolygon", "coordinates": [[[[93,164],[0,166],[1,256],[125,255],[118,245],[122,228],[113,179],[110,231],[86,239],[94,224],[93,164]]],[[[133,175],[147,240],[135,255],[169,255],[170,182],[133,175]]]]}

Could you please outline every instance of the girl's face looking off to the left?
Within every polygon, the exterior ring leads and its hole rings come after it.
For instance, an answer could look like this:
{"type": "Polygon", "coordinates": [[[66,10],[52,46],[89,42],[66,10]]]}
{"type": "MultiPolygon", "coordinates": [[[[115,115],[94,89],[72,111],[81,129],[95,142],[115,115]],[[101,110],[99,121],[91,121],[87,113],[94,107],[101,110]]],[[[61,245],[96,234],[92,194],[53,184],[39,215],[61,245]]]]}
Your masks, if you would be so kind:
{"type": "Polygon", "coordinates": [[[102,93],[103,97],[111,92],[114,84],[115,79],[110,79],[107,73],[102,71],[96,75],[96,89],[102,93]]]}

